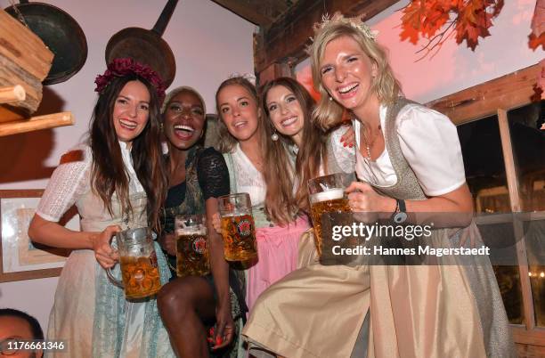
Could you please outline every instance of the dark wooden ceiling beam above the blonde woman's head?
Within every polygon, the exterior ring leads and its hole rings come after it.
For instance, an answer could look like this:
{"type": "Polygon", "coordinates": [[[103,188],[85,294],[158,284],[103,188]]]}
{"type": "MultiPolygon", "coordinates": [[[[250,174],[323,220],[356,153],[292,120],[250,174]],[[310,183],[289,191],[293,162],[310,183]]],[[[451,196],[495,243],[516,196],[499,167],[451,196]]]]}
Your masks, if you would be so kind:
{"type": "Polygon", "coordinates": [[[289,58],[307,57],[306,45],[313,36],[313,24],[323,13],[342,12],[346,16],[361,16],[362,20],[382,12],[399,0],[299,0],[269,28],[261,28],[256,44],[256,73],[272,63],[286,62],[289,58]]]}

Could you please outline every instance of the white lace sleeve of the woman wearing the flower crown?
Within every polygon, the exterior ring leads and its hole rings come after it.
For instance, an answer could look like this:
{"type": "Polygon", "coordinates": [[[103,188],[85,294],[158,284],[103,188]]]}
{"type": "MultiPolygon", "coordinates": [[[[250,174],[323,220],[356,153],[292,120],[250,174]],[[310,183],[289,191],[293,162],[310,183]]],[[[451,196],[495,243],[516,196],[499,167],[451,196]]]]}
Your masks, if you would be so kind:
{"type": "Polygon", "coordinates": [[[91,155],[88,147],[78,147],[61,157],[44,195],[38,204],[36,213],[45,220],[58,222],[64,213],[74,205],[88,186],[88,173],[91,167],[91,155]]]}

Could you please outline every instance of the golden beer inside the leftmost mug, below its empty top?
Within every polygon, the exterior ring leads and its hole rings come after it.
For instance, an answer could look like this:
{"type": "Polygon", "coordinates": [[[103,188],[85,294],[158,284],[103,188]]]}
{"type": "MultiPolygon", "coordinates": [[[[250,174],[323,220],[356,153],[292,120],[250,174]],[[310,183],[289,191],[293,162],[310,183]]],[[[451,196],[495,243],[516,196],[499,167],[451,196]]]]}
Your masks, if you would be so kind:
{"type": "Polygon", "coordinates": [[[121,274],[126,298],[143,298],[155,295],[161,288],[157,256],[121,256],[121,274]]]}

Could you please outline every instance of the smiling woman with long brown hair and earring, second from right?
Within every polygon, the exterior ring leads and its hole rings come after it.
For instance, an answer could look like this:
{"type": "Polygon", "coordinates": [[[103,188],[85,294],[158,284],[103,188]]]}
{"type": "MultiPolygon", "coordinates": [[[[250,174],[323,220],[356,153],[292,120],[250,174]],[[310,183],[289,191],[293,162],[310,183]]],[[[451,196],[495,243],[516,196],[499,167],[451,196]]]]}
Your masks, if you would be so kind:
{"type": "Polygon", "coordinates": [[[312,120],[313,97],[291,77],[267,82],[260,98],[267,118],[261,128],[262,137],[267,139],[263,141],[265,207],[269,216],[282,222],[288,219],[290,209],[310,212],[306,186],[310,179],[354,172],[354,132],[351,126],[336,126],[328,132],[316,126],[312,120]],[[287,170],[290,167],[293,172],[287,170]]]}

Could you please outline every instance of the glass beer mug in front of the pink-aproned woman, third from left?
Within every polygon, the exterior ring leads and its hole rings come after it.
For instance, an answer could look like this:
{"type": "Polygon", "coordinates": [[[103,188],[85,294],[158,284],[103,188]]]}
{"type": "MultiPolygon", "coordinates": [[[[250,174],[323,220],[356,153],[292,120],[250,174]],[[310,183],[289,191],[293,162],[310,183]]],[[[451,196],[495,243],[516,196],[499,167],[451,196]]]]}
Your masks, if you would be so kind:
{"type": "Polygon", "coordinates": [[[225,260],[247,261],[257,257],[256,224],[249,194],[224,195],[218,201],[225,260]]]}

